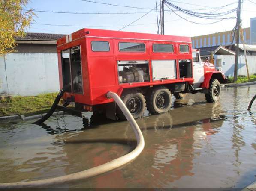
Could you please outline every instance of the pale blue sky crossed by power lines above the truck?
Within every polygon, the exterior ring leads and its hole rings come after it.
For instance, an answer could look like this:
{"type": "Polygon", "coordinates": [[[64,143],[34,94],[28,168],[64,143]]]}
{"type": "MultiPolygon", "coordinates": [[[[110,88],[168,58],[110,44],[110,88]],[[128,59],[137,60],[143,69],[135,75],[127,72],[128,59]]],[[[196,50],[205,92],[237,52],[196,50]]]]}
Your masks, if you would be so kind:
{"type": "MultiPolygon", "coordinates": [[[[134,6],[140,8],[153,9],[156,6],[156,0],[93,0],[102,3],[111,3],[117,5],[134,6]]],[[[256,0],[244,0],[241,6],[242,27],[250,27],[250,18],[256,17],[256,0]],[[254,3],[252,3],[252,2],[254,3]]],[[[157,5],[160,0],[157,0],[157,5]]],[[[220,7],[229,3],[233,5],[221,9],[220,12],[234,9],[237,6],[238,0],[175,0],[174,3],[184,9],[205,9],[207,12],[209,7],[220,7]],[[189,3],[189,4],[187,4],[189,3]],[[195,5],[190,5],[195,4],[195,5]]],[[[134,9],[119,6],[102,5],[97,3],[85,2],[83,0],[30,0],[25,8],[32,8],[43,11],[60,11],[60,12],[139,12],[133,14],[118,14],[118,15],[88,15],[88,14],[65,14],[65,13],[49,13],[49,12],[35,12],[33,24],[27,32],[43,32],[56,34],[71,34],[81,28],[95,28],[95,29],[110,29],[119,30],[133,21],[140,18],[149,10],[134,9]],[[79,25],[79,26],[48,26],[42,24],[53,25],[79,25]],[[114,26],[113,26],[114,25],[114,26]]],[[[159,8],[159,7],[158,7],[159,8]]],[[[165,6],[165,10],[169,10],[165,6]]],[[[199,19],[182,15],[191,21],[199,23],[209,23],[211,20],[199,19]],[[189,18],[188,18],[189,17],[189,18]]],[[[235,13],[230,16],[236,16],[235,13]]],[[[216,24],[200,25],[190,23],[179,18],[173,12],[165,12],[165,34],[179,35],[179,36],[198,36],[206,35],[215,32],[223,32],[232,30],[235,26],[235,19],[223,20],[216,24]]],[[[156,12],[150,12],[133,25],[128,26],[122,31],[130,32],[144,32],[157,33],[157,15],[156,12]]]]}

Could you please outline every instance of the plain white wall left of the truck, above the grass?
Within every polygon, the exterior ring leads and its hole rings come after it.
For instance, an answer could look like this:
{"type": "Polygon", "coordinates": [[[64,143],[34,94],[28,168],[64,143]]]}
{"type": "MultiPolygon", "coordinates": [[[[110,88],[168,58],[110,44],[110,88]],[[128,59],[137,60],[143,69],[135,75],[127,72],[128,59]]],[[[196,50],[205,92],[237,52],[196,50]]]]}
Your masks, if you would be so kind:
{"type": "Polygon", "coordinates": [[[6,68],[0,58],[0,94],[30,96],[59,91],[57,53],[9,53],[5,62],[6,68]]]}

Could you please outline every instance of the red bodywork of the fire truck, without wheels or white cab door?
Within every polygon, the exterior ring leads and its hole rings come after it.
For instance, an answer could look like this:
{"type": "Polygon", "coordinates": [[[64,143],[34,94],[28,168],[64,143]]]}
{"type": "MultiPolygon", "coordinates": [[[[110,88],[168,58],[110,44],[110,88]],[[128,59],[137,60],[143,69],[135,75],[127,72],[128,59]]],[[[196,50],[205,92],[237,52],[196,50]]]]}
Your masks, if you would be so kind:
{"type": "MultiPolygon", "coordinates": [[[[113,102],[106,97],[108,91],[121,96],[127,88],[194,83],[190,37],[81,29],[60,38],[57,53],[60,88],[72,84],[64,99],[72,97],[75,103],[87,106],[113,102]],[[167,77],[161,76],[166,72],[163,69],[166,66],[166,70],[171,68],[172,76],[168,73],[165,74],[167,77]],[[132,71],[135,71],[133,76],[132,71]],[[140,73],[143,74],[140,76],[140,73]],[[78,77],[75,79],[75,76],[78,77]],[[79,80],[82,82],[77,85],[79,80]],[[80,87],[75,90],[75,86],[80,87]]],[[[204,73],[204,82],[199,87],[202,89],[209,88],[214,73],[220,80],[224,79],[214,67],[204,66],[204,73]]],[[[172,89],[186,91],[175,86],[172,89]]]]}

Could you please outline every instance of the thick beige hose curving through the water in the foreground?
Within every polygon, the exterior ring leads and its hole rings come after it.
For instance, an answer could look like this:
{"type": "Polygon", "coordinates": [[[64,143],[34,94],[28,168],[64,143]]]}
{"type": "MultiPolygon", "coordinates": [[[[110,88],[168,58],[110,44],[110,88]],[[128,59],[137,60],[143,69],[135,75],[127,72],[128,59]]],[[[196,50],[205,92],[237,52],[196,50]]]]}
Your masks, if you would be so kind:
{"type": "Polygon", "coordinates": [[[44,180],[29,181],[29,182],[2,183],[0,184],[0,189],[1,188],[38,188],[38,187],[45,187],[50,185],[57,185],[57,184],[63,184],[67,182],[78,181],[82,179],[84,180],[84,179],[91,178],[93,176],[97,176],[99,174],[117,169],[131,162],[133,159],[139,156],[139,154],[144,149],[145,143],[144,143],[142,132],[139,129],[138,124],[134,120],[133,116],[131,115],[131,113],[129,112],[129,110],[123,103],[123,101],[120,99],[120,97],[116,93],[108,92],[107,97],[114,99],[114,101],[117,103],[119,108],[122,110],[123,115],[130,122],[130,125],[133,128],[133,131],[136,135],[136,140],[137,140],[137,146],[133,151],[117,159],[114,159],[110,162],[107,162],[103,165],[99,165],[97,167],[93,167],[78,173],[73,173],[65,176],[59,176],[56,178],[50,178],[50,179],[44,179],[44,180]]]}

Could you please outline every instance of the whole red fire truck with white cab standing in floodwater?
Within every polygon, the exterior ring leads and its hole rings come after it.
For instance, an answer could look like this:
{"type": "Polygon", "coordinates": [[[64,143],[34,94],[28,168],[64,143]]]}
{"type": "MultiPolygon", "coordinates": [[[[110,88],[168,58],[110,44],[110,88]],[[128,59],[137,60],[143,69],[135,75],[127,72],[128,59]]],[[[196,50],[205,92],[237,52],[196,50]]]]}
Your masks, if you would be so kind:
{"type": "Polygon", "coordinates": [[[60,88],[71,84],[63,100],[78,110],[105,112],[110,119],[123,115],[106,97],[108,91],[139,118],[145,109],[167,112],[172,94],[201,92],[207,102],[215,102],[225,80],[214,65],[201,62],[191,39],[183,36],[81,29],[59,39],[57,53],[60,88]]]}

